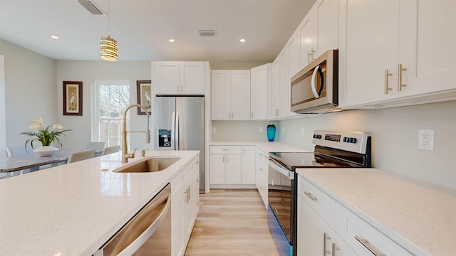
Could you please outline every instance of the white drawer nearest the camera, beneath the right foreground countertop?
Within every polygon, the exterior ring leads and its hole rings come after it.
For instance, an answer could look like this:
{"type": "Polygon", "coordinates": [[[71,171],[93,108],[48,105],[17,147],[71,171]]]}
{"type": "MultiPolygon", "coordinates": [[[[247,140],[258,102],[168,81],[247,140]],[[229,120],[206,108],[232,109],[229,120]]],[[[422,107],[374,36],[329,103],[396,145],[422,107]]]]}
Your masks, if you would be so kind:
{"type": "Polygon", "coordinates": [[[355,213],[336,203],[336,233],[358,254],[412,255],[355,213]]]}

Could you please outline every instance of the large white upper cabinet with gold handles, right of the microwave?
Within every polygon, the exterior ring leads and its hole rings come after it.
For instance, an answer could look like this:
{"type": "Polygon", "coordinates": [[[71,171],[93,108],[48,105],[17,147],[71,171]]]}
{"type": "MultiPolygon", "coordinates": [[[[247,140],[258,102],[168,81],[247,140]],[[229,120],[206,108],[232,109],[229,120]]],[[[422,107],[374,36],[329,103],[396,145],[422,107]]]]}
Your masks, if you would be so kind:
{"type": "Polygon", "coordinates": [[[456,1],[341,0],[341,107],[456,96],[456,1]]]}

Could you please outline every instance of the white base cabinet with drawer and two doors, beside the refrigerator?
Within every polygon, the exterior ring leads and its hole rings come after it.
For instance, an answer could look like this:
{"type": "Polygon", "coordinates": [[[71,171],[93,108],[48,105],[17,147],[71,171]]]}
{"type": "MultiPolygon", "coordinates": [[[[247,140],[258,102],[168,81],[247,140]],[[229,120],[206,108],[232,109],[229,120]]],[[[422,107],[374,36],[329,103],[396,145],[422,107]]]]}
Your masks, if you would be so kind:
{"type": "Polygon", "coordinates": [[[210,146],[211,184],[241,183],[241,146],[210,146]]]}

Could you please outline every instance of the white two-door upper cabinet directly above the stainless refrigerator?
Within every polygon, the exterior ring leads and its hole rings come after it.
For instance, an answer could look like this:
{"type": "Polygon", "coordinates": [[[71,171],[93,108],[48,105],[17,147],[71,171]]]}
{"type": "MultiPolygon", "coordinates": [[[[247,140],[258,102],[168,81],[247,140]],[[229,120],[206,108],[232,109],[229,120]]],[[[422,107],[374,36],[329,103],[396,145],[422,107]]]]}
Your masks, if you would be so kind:
{"type": "Polygon", "coordinates": [[[204,95],[204,62],[152,62],[154,95],[204,95]]]}

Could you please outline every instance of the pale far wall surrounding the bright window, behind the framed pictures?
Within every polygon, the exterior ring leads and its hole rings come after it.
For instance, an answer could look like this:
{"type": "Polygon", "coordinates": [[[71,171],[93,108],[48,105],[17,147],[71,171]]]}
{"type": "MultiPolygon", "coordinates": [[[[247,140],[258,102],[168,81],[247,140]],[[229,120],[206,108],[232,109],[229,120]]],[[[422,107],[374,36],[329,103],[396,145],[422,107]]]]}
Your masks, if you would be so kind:
{"type": "MultiPolygon", "coordinates": [[[[63,61],[56,63],[57,95],[59,101],[58,122],[67,129],[73,129],[68,135],[67,148],[85,148],[91,140],[91,95],[93,80],[129,80],[130,103],[137,103],[136,80],[150,80],[150,61],[63,61]],[[83,82],[83,115],[64,116],[62,107],[63,81],[83,82]]],[[[145,130],[147,118],[138,116],[136,108],[130,109],[130,129],[145,130]]],[[[152,149],[153,144],[145,143],[145,134],[130,134],[132,148],[152,149]]]]}

